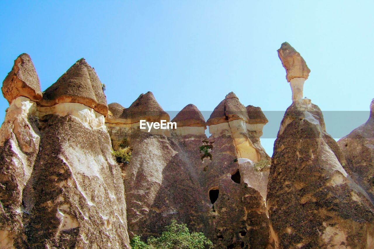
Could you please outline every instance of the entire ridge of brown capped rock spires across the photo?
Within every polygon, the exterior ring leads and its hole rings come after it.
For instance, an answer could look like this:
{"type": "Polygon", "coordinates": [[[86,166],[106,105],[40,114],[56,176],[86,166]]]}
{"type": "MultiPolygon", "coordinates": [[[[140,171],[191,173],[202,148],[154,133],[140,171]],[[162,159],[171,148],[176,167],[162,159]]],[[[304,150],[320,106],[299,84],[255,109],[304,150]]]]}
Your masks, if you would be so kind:
{"type": "Polygon", "coordinates": [[[302,98],[306,62],[288,43],[278,55],[292,104],[271,166],[266,116],[233,92],[206,122],[188,104],[177,127],[148,132],[140,120],[170,120],[153,93],[107,105],[84,59],[41,92],[20,55],[1,87],[0,248],[129,248],[172,219],[215,248],[374,248],[374,101],[368,121],[335,142],[302,98]],[[131,159],[113,156],[121,150],[131,159]]]}

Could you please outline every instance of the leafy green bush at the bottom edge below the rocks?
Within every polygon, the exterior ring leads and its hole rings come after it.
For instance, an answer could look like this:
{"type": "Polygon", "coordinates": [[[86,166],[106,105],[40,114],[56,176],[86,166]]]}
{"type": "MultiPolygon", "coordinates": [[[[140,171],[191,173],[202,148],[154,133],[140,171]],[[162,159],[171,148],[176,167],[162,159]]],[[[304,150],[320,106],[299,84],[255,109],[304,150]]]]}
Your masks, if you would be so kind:
{"type": "Polygon", "coordinates": [[[147,244],[135,235],[130,245],[133,249],[203,249],[213,248],[213,243],[205,237],[203,233],[190,233],[186,224],[177,224],[173,220],[170,225],[165,227],[160,237],[149,237],[147,244]]]}

